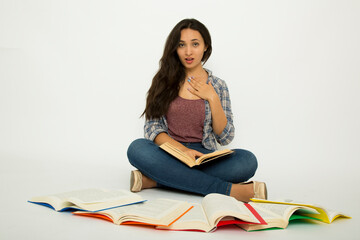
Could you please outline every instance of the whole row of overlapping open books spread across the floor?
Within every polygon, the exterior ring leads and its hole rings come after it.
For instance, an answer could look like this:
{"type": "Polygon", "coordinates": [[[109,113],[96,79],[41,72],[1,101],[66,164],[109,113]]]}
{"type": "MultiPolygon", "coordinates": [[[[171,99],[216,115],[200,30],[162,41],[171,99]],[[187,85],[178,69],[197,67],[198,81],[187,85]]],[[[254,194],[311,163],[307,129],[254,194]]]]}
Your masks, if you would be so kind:
{"type": "Polygon", "coordinates": [[[159,198],[144,200],[126,190],[85,189],[33,197],[29,201],[55,211],[102,218],[114,224],[152,225],[164,230],[212,232],[218,227],[236,224],[246,231],[286,228],[293,219],[311,219],[331,223],[343,213],[323,207],[291,201],[252,199],[243,203],[235,198],[212,193],[200,204],[159,198]]]}

